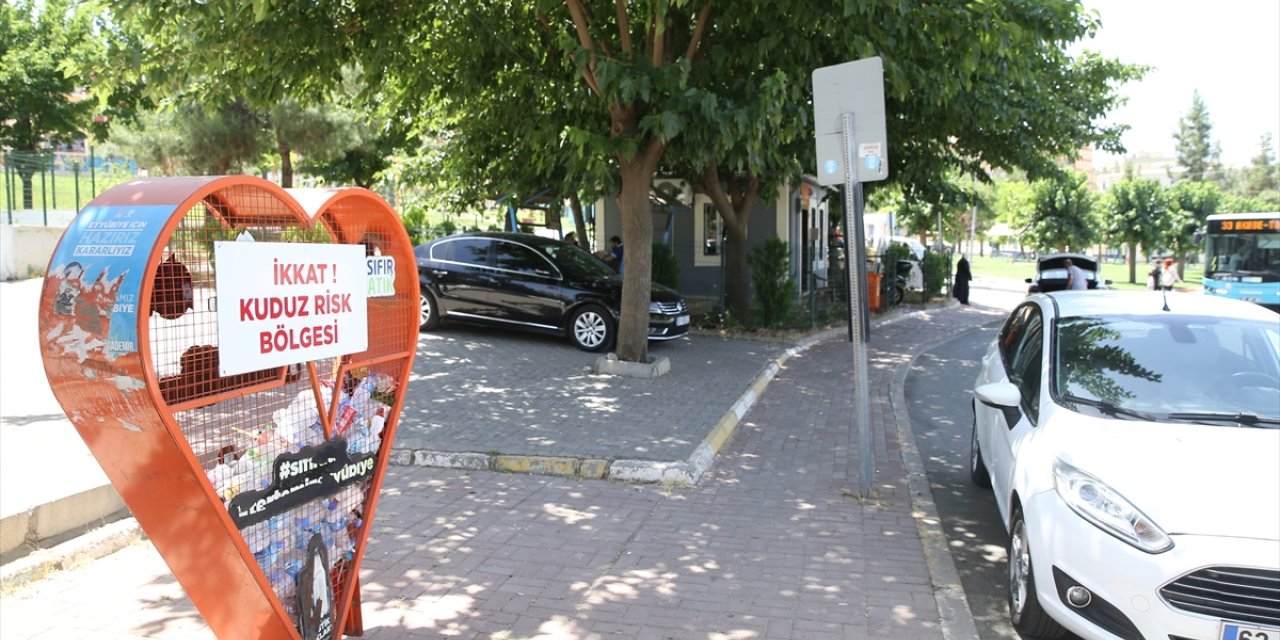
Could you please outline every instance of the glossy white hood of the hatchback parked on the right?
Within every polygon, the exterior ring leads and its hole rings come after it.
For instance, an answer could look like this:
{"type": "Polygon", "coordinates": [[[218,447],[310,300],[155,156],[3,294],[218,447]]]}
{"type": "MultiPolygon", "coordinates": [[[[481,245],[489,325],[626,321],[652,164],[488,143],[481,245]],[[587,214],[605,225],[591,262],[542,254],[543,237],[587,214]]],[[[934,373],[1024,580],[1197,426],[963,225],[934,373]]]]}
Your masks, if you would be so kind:
{"type": "Polygon", "coordinates": [[[1120,492],[1170,535],[1280,540],[1280,429],[1055,415],[1047,451],[1120,492]]]}

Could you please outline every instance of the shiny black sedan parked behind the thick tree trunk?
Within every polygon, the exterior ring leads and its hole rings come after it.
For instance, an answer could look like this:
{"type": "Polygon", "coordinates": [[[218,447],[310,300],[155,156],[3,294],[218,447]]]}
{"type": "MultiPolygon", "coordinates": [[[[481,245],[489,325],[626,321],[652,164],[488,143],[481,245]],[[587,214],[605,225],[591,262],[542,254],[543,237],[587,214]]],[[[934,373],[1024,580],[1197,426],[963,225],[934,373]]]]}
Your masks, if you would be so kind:
{"type": "MultiPolygon", "coordinates": [[[[617,337],[622,278],[579,248],[527,233],[467,233],[413,250],[421,294],[419,324],[497,324],[567,335],[584,351],[605,351],[617,337]]],[[[649,339],[689,333],[689,306],[654,284],[649,339]]]]}

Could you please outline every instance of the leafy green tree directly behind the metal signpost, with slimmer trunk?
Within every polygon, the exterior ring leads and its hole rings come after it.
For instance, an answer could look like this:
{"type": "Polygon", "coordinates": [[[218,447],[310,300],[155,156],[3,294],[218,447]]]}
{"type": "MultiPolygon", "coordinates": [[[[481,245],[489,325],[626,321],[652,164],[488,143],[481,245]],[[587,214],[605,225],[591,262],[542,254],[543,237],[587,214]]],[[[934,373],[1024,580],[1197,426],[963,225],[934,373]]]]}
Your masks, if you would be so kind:
{"type": "Polygon", "coordinates": [[[973,205],[972,182],[960,173],[1043,174],[1080,147],[1115,148],[1123,129],[1097,120],[1119,100],[1112,84],[1143,73],[1093,54],[1066,55],[1068,44],[1097,27],[1074,1],[938,3],[928,12],[846,3],[844,19],[803,18],[823,10],[820,3],[755,3],[730,12],[708,32],[719,46],[694,59],[694,79],[712,96],[686,114],[666,157],[676,174],[695,177],[724,220],[731,307],[745,305],[751,207],[815,166],[814,68],[883,58],[890,173],[910,205],[900,212],[922,210],[928,220],[909,227],[933,229],[941,210],[954,234],[955,219],[972,215],[973,205]]]}

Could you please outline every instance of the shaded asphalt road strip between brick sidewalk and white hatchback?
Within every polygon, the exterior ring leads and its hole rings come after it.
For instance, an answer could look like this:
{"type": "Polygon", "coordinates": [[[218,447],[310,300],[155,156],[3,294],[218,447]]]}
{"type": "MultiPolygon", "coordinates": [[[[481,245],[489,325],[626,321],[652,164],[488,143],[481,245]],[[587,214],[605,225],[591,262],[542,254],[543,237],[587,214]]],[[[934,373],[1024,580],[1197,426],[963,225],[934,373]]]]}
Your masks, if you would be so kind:
{"type": "Polygon", "coordinates": [[[982,640],[1020,637],[1006,602],[1009,538],[991,490],[969,480],[973,380],[998,328],[993,323],[924,351],[904,388],[915,444],[982,640]]]}

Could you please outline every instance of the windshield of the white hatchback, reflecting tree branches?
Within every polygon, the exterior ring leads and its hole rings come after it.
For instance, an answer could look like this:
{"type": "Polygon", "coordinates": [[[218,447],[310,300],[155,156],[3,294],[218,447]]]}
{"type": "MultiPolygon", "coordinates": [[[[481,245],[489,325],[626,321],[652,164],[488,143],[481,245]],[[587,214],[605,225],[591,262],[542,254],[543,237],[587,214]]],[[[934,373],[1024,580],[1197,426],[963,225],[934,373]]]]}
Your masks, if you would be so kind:
{"type": "Polygon", "coordinates": [[[1055,397],[1076,411],[1276,426],[1280,323],[1170,314],[1062,317],[1051,376],[1055,397]]]}

